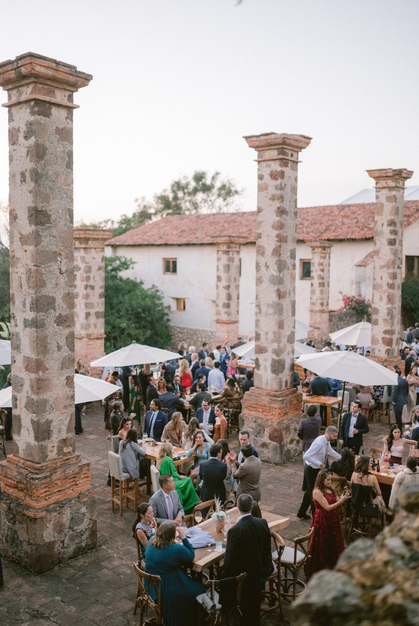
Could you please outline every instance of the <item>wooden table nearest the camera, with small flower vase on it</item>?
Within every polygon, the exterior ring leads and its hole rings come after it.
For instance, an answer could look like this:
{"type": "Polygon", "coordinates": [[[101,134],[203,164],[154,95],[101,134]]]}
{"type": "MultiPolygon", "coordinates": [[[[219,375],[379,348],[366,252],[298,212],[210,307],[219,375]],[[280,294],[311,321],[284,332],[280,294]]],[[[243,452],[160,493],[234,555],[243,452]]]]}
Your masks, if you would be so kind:
{"type": "MultiPolygon", "coordinates": [[[[269,513],[268,511],[261,511],[261,513],[262,513],[262,517],[265,518],[265,520],[268,522],[268,526],[270,530],[278,532],[282,530],[283,528],[286,528],[286,526],[290,525],[289,517],[283,517],[282,515],[276,515],[276,513],[269,513]]],[[[236,523],[236,520],[238,518],[239,510],[235,506],[235,508],[231,508],[228,511],[228,514],[230,515],[231,526],[233,526],[236,523]]],[[[202,528],[202,530],[205,530],[211,535],[213,535],[216,541],[222,541],[224,539],[224,535],[222,532],[218,533],[215,530],[215,524],[216,524],[215,521],[211,520],[210,518],[206,521],[201,522],[199,524],[199,528],[202,528]]],[[[228,535],[227,535],[227,539],[228,539],[228,535]]],[[[225,543],[223,543],[223,546],[225,546],[225,543]]],[[[203,570],[210,569],[210,576],[212,576],[213,575],[212,570],[213,570],[215,563],[218,563],[219,561],[221,561],[222,558],[224,558],[224,555],[226,552],[225,547],[223,548],[221,552],[215,552],[214,548],[215,548],[215,545],[213,544],[209,547],[195,549],[195,558],[193,560],[192,569],[194,570],[194,572],[197,572],[198,575],[200,575],[203,572],[203,570]],[[208,552],[208,550],[211,550],[211,552],[208,552]]],[[[201,576],[198,576],[198,577],[202,578],[201,576]]]]}

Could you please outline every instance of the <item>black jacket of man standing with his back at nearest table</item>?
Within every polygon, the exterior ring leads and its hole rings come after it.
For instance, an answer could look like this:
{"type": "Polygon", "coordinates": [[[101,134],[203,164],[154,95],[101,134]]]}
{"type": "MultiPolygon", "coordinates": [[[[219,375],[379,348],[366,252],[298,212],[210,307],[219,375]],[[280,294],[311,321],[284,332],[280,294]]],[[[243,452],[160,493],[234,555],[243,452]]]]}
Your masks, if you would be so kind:
{"type": "MultiPolygon", "coordinates": [[[[271,533],[268,522],[251,515],[243,517],[228,531],[223,574],[227,577],[246,572],[243,587],[259,585],[266,563],[272,563],[271,533]]],[[[273,564],[271,572],[273,572],[273,564]]],[[[256,598],[257,599],[257,598],[256,598]]]]}

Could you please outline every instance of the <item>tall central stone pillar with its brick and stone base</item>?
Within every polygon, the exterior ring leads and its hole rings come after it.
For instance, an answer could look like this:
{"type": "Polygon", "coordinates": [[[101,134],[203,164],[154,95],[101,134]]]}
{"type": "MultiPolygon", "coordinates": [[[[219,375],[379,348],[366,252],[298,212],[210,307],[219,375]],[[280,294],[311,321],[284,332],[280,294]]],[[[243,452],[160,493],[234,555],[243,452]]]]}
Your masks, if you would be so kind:
{"type": "Polygon", "coordinates": [[[245,139],[258,153],[256,359],[241,419],[261,458],[281,463],[300,451],[301,394],[293,389],[297,169],[311,139],[276,133],[245,139]]]}

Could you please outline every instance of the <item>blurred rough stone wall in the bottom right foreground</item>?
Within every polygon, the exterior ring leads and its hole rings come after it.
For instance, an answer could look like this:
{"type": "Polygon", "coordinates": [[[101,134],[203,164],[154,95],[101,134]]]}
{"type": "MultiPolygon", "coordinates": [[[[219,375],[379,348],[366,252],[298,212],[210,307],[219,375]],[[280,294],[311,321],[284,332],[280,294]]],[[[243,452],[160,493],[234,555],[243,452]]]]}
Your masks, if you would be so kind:
{"type": "Polygon", "coordinates": [[[419,485],[398,496],[401,510],[375,540],[359,538],[335,570],[316,573],[293,602],[300,626],[417,626],[419,485]]]}

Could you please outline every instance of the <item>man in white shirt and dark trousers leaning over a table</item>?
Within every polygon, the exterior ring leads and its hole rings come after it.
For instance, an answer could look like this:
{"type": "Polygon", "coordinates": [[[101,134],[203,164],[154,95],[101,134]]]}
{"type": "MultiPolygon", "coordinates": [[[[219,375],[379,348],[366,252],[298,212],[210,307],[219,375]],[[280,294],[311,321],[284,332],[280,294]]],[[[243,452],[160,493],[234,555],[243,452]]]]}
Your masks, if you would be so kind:
{"type": "Polygon", "coordinates": [[[304,461],[304,480],[303,480],[303,501],[301,502],[300,509],[298,510],[297,517],[302,520],[308,520],[310,515],[307,515],[307,509],[311,507],[311,513],[314,515],[315,505],[313,504],[313,489],[316,482],[316,477],[320,469],[328,468],[328,458],[331,456],[333,459],[340,459],[338,454],[330,445],[330,441],[335,441],[338,438],[338,429],[336,426],[328,426],[325,430],[325,434],[321,434],[311,444],[310,448],[303,454],[304,461]]]}

